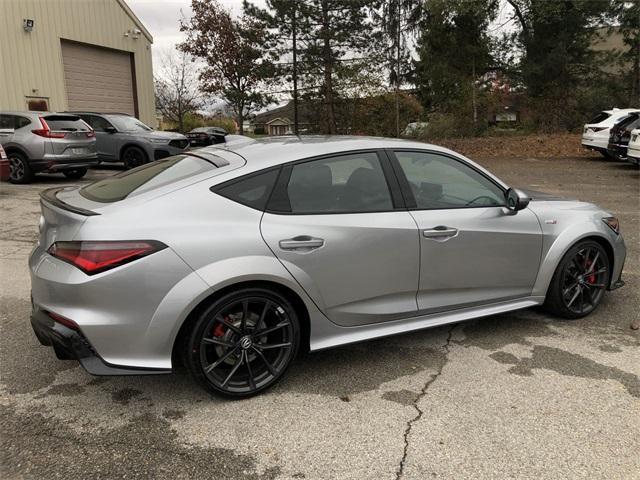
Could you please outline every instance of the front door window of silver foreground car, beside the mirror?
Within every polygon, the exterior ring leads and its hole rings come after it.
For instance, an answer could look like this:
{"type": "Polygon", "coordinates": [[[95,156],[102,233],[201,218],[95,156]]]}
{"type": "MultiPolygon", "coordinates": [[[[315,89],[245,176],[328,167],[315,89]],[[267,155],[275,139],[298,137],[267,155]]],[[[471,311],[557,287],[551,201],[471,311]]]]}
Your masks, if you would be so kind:
{"type": "Polygon", "coordinates": [[[419,209],[505,205],[491,180],[462,162],[427,152],[395,152],[419,209]]]}

